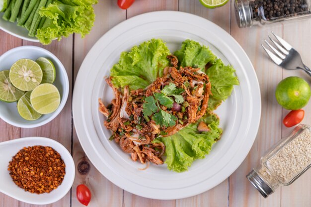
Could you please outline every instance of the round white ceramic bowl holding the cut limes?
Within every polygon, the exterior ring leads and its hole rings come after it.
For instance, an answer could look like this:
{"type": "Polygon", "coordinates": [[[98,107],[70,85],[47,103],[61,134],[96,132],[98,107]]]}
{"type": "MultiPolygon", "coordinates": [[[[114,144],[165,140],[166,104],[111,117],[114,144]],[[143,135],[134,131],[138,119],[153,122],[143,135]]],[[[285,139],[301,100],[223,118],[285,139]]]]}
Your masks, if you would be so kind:
{"type": "Polygon", "coordinates": [[[53,120],[64,108],[67,102],[69,94],[69,80],[64,65],[61,61],[46,49],[35,46],[21,46],[13,48],[5,52],[0,57],[0,71],[8,70],[19,59],[27,58],[36,60],[39,57],[45,57],[51,60],[56,69],[56,79],[53,85],[55,85],[61,95],[61,103],[56,111],[50,114],[42,115],[39,119],[34,121],[28,121],[23,119],[17,111],[16,102],[4,103],[0,102],[0,118],[5,122],[22,128],[34,128],[42,126],[51,120],[53,120]]]}

